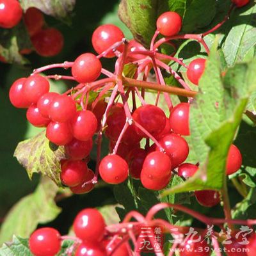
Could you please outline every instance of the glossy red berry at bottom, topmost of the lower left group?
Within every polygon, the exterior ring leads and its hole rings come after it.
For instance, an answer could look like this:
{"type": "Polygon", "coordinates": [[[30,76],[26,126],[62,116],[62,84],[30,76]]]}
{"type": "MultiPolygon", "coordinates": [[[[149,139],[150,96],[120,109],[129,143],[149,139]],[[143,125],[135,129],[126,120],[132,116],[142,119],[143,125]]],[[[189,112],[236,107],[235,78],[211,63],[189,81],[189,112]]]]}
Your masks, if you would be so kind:
{"type": "Polygon", "coordinates": [[[104,218],[97,209],[87,208],[79,212],[74,220],[74,232],[83,241],[98,242],[104,236],[104,218]]]}

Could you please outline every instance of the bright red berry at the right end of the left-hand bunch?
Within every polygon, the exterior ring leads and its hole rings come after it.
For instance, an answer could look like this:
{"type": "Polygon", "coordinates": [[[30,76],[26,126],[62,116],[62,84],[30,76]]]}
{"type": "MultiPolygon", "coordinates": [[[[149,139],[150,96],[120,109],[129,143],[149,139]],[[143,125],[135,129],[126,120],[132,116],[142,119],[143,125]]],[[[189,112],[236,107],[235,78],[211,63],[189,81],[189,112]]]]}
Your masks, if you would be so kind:
{"type": "Polygon", "coordinates": [[[78,111],[71,120],[71,129],[77,140],[90,140],[97,130],[97,118],[89,110],[78,111]]]}

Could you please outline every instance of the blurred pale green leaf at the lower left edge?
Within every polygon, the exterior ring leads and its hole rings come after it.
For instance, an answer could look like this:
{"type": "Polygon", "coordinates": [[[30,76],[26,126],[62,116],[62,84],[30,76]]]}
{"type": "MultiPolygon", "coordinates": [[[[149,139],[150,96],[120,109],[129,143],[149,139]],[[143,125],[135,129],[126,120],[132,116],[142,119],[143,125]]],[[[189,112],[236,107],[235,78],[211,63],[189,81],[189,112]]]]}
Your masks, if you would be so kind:
{"type": "Polygon", "coordinates": [[[12,239],[13,234],[28,237],[38,223],[54,220],[61,211],[54,202],[57,192],[58,187],[50,179],[42,179],[34,193],[22,198],[8,212],[0,230],[0,244],[12,239]]]}

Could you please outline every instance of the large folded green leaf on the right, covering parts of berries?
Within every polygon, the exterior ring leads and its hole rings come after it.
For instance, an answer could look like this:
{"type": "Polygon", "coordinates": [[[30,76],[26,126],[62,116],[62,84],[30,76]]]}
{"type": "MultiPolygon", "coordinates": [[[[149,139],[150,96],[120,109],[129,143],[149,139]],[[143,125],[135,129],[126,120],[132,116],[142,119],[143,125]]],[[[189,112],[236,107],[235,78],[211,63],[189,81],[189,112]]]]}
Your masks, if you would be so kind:
{"type": "Polygon", "coordinates": [[[200,170],[188,181],[164,191],[162,195],[198,189],[220,190],[223,186],[228,148],[242,120],[248,98],[256,88],[256,59],[230,68],[222,81],[216,43],[200,80],[200,93],[191,104],[189,114],[189,146],[200,162],[200,170]]]}

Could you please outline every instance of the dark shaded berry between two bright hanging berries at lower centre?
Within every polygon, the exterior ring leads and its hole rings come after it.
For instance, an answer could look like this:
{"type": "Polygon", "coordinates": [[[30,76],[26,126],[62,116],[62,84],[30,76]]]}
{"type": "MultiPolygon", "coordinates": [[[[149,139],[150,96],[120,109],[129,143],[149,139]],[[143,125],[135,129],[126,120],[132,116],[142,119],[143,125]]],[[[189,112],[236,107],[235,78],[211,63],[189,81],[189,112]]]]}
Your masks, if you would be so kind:
{"type": "Polygon", "coordinates": [[[133,179],[140,179],[140,173],[146,157],[147,152],[142,148],[134,148],[131,150],[128,161],[129,173],[133,179]]]}

